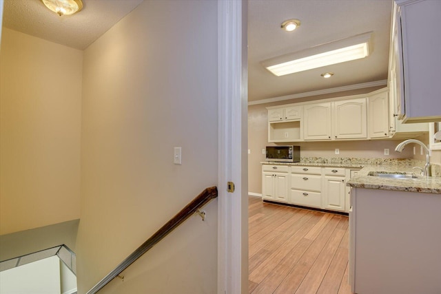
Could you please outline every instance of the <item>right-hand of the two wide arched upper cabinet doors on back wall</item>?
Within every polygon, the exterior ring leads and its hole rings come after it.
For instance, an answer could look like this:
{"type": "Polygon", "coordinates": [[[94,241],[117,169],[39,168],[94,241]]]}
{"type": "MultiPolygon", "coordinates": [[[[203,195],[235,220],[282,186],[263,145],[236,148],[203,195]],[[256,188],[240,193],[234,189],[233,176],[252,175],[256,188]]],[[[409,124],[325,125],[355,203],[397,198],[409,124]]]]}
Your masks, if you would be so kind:
{"type": "Polygon", "coordinates": [[[334,102],[334,137],[367,138],[366,98],[334,102]]]}

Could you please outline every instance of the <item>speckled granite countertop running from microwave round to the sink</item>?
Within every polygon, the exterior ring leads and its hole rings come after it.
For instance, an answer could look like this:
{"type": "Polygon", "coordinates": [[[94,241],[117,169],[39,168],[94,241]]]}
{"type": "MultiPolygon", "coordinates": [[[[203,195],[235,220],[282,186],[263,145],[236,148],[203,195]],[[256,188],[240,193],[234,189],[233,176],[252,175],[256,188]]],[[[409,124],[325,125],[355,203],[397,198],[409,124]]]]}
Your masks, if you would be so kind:
{"type": "Polygon", "coordinates": [[[345,167],[360,169],[358,174],[347,182],[349,187],[409,191],[441,194],[441,166],[432,165],[433,177],[419,176],[412,167],[424,167],[424,162],[411,159],[387,158],[300,158],[300,162],[260,162],[263,165],[293,165],[311,167],[345,167]],[[396,179],[368,176],[369,171],[411,172],[418,178],[396,179]]]}

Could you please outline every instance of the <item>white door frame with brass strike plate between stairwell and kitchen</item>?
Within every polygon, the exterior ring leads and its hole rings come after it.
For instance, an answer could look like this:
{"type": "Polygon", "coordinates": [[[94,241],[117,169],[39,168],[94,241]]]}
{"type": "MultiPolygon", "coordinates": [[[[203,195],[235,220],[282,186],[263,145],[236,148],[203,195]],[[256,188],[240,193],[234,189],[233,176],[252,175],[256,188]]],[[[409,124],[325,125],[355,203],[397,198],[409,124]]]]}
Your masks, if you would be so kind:
{"type": "Polygon", "coordinates": [[[218,294],[248,293],[247,79],[247,0],[219,0],[218,294]]]}

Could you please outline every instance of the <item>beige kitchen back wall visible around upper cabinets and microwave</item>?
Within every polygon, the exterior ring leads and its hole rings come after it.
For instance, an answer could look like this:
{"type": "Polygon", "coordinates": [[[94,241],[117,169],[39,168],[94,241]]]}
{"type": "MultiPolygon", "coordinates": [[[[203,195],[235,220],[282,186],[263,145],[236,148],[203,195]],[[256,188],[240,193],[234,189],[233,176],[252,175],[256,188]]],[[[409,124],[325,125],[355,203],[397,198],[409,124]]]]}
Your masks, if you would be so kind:
{"type": "MultiPolygon", "coordinates": [[[[283,105],[289,103],[299,103],[314,101],[318,99],[349,96],[355,94],[365,94],[377,88],[342,92],[337,94],[327,94],[321,96],[299,98],[291,101],[280,101],[278,103],[266,103],[262,105],[250,105],[248,107],[248,191],[250,193],[262,193],[262,166],[260,162],[265,161],[265,154],[262,149],[268,143],[268,114],[265,107],[283,105]]],[[[358,157],[358,158],[411,158],[411,148],[406,148],[400,154],[394,149],[402,140],[358,140],[358,141],[338,141],[338,142],[302,142],[292,143],[300,146],[302,157],[358,157]],[[335,149],[340,149],[340,154],[335,155],[335,149]],[[390,155],[384,156],[384,149],[388,148],[390,155]]]]}

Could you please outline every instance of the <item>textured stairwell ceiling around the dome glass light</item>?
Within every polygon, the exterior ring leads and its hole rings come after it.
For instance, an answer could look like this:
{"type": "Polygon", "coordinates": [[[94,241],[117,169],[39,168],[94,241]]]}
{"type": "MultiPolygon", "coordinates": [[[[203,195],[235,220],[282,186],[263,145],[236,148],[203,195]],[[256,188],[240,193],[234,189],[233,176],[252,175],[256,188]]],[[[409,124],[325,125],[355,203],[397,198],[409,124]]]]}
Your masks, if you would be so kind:
{"type": "Polygon", "coordinates": [[[4,0],[3,25],[84,50],[143,0],[83,0],[83,10],[59,17],[41,0],[4,0]]]}

